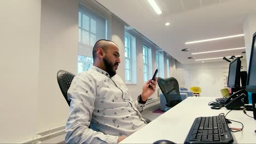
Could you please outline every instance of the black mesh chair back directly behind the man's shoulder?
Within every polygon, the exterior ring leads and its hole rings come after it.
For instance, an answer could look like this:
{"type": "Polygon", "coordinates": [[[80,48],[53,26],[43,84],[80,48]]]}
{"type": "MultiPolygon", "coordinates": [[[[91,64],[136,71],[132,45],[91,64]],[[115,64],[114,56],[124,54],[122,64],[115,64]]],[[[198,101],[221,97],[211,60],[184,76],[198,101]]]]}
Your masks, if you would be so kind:
{"type": "Polygon", "coordinates": [[[59,70],[57,73],[57,81],[59,83],[61,92],[68,103],[68,106],[70,106],[70,101],[67,99],[67,91],[71,85],[72,80],[74,79],[74,76],[74,74],[65,70],[59,70]]]}

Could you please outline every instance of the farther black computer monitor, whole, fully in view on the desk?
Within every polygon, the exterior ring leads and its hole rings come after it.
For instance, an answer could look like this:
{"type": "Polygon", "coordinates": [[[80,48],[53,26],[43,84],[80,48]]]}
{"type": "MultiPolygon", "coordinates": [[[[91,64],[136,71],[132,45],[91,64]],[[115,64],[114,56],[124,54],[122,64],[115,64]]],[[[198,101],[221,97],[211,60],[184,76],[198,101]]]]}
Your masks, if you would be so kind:
{"type": "Polygon", "coordinates": [[[240,68],[241,60],[237,57],[229,64],[229,77],[228,77],[228,87],[230,88],[240,88],[240,68]]]}

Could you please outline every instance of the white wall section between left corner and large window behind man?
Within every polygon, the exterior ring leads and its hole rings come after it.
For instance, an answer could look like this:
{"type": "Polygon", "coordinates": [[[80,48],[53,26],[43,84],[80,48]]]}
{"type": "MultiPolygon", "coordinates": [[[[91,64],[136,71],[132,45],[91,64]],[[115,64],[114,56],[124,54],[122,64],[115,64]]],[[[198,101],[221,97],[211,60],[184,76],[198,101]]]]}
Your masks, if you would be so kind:
{"type": "Polygon", "coordinates": [[[56,75],[60,69],[77,73],[78,3],[78,0],[42,1],[38,131],[67,121],[69,107],[56,75]]]}

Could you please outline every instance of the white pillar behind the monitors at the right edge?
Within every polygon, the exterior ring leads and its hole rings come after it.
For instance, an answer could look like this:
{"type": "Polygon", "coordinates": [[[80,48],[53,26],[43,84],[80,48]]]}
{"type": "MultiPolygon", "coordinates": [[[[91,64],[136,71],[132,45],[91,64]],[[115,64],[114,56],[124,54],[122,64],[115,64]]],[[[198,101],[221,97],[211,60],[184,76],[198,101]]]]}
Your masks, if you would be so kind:
{"type": "Polygon", "coordinates": [[[245,33],[247,70],[248,70],[250,56],[251,56],[252,36],[255,32],[256,32],[256,14],[250,14],[248,15],[245,23],[243,23],[243,33],[245,33]]]}

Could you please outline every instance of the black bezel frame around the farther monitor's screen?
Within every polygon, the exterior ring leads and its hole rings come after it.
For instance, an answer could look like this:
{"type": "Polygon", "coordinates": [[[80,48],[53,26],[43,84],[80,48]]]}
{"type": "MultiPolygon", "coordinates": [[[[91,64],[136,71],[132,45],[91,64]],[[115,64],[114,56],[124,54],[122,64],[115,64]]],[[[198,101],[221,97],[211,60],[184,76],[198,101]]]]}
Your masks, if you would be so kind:
{"type": "Polygon", "coordinates": [[[230,88],[240,88],[240,69],[241,69],[241,60],[240,57],[234,59],[234,61],[230,62],[229,64],[229,74],[230,74],[230,65],[233,63],[237,63],[236,65],[236,76],[235,76],[235,83],[229,84],[229,75],[228,75],[228,83],[227,87],[230,88]]]}

